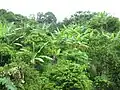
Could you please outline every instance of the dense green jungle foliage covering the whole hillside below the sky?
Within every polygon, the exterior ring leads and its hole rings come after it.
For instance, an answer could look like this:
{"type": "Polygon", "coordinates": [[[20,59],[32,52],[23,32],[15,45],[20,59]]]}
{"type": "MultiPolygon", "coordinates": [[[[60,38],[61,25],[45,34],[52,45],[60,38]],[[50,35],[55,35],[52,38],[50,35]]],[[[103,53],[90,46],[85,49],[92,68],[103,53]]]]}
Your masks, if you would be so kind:
{"type": "Polygon", "coordinates": [[[0,10],[1,90],[119,90],[120,21],[77,12],[57,23],[0,10]]]}

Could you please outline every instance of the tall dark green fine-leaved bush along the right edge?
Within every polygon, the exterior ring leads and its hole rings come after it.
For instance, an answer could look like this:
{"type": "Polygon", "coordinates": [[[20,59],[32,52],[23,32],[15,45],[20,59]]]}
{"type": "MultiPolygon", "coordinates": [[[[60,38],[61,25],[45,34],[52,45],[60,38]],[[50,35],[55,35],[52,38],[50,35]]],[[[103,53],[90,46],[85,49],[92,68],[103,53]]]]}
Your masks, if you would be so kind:
{"type": "MultiPolygon", "coordinates": [[[[118,49],[120,42],[119,38],[116,39],[116,36],[113,37],[112,34],[107,35],[106,33],[106,36],[105,34],[99,34],[94,38],[89,38],[89,49],[86,51],[89,60],[91,61],[91,65],[95,65],[96,76],[101,77],[105,75],[108,78],[108,82],[111,82],[111,85],[107,88],[113,88],[114,90],[120,88],[118,84],[120,82],[120,71],[118,69],[120,67],[120,56],[118,49]]],[[[95,78],[93,77],[92,80],[95,80],[95,78]]],[[[102,88],[102,85],[106,86],[105,84],[107,84],[107,82],[100,83],[101,82],[99,82],[100,89],[102,88]]],[[[106,87],[104,87],[104,89],[105,88],[106,87]]]]}

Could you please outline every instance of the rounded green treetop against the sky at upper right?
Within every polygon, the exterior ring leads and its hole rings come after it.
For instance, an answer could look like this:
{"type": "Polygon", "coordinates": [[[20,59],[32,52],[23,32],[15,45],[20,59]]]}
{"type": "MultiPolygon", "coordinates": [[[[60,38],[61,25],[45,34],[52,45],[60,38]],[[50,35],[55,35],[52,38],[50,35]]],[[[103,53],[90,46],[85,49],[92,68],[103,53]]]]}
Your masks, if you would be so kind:
{"type": "Polygon", "coordinates": [[[116,32],[120,29],[119,18],[110,16],[106,13],[99,13],[98,15],[94,16],[88,23],[92,29],[97,29],[99,31],[105,30],[108,32],[116,32]]]}

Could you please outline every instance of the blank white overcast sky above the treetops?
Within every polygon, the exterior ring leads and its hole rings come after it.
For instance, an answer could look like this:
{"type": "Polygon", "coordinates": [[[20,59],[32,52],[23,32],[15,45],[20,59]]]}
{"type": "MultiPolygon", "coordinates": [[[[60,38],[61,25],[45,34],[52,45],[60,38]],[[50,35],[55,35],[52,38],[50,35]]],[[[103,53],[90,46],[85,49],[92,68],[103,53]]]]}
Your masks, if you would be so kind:
{"type": "Polygon", "coordinates": [[[0,0],[0,9],[29,16],[37,12],[52,11],[58,20],[76,11],[106,11],[120,17],[119,0],[0,0]]]}

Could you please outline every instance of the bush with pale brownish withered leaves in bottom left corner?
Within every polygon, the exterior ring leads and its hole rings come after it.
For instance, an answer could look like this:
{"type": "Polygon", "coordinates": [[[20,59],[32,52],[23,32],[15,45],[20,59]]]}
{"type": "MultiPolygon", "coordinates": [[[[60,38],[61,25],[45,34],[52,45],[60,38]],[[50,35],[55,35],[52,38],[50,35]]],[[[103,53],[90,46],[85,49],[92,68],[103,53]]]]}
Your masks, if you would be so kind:
{"type": "Polygon", "coordinates": [[[40,90],[39,72],[22,61],[5,65],[3,68],[0,68],[0,73],[1,78],[10,78],[11,83],[18,90],[40,90]]]}

